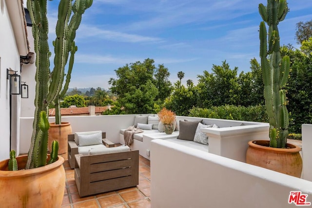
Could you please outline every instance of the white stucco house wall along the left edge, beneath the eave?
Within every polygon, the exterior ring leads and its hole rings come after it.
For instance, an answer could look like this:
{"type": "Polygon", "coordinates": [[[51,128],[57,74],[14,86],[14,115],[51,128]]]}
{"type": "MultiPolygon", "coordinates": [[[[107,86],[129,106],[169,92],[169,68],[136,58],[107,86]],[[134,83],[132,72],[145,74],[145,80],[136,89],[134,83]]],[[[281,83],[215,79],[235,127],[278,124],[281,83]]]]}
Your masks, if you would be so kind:
{"type": "MultiPolygon", "coordinates": [[[[20,55],[9,19],[8,10],[4,0],[0,1],[0,160],[7,159],[10,151],[10,94],[9,81],[6,79],[6,69],[20,72],[20,55]],[[2,9],[3,8],[3,9],[2,9]]],[[[15,96],[12,101],[13,109],[19,109],[20,96],[15,96]]],[[[15,115],[19,117],[18,110],[15,115]]],[[[17,119],[19,123],[19,119],[17,119]]],[[[19,124],[16,125],[19,125],[19,124]]],[[[15,131],[17,127],[14,127],[15,131]]],[[[18,128],[19,129],[19,128],[18,128]]],[[[12,136],[19,137],[19,133],[13,132],[12,136]]],[[[18,141],[18,138],[13,138],[18,141]]]]}

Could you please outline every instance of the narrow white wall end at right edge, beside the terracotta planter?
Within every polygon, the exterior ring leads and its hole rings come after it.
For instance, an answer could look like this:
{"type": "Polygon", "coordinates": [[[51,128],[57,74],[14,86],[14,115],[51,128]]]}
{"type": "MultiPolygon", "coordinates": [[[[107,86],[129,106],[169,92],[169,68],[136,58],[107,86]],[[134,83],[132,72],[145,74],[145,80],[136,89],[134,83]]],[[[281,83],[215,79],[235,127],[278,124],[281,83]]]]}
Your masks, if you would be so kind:
{"type": "Polygon", "coordinates": [[[302,124],[302,178],[312,181],[312,124],[302,124]]]}

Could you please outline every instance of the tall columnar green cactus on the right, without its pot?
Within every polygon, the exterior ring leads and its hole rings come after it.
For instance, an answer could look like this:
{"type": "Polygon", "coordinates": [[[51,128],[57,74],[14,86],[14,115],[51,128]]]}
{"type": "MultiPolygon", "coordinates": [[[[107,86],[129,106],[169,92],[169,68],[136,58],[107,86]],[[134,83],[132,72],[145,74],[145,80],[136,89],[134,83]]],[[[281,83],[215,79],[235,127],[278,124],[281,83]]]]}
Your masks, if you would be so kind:
{"type": "Polygon", "coordinates": [[[260,58],[264,84],[264,98],[270,122],[270,147],[285,148],[288,135],[288,111],[285,87],[290,70],[290,58],[281,58],[277,25],[288,13],[286,0],[268,0],[259,4],[260,58]],[[269,26],[269,31],[265,26],[269,26]],[[268,59],[269,57],[269,59],[268,59]]]}

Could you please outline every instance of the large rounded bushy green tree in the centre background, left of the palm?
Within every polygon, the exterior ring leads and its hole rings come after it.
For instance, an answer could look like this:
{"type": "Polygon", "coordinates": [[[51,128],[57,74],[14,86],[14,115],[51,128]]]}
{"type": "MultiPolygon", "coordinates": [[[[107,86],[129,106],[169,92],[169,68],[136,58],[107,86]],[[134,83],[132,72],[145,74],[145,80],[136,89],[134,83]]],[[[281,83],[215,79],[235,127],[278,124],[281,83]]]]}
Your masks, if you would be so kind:
{"type": "Polygon", "coordinates": [[[154,85],[154,60],[126,64],[115,70],[117,79],[111,78],[112,93],[118,96],[116,108],[124,113],[155,113],[154,102],[158,90],[154,85]]]}

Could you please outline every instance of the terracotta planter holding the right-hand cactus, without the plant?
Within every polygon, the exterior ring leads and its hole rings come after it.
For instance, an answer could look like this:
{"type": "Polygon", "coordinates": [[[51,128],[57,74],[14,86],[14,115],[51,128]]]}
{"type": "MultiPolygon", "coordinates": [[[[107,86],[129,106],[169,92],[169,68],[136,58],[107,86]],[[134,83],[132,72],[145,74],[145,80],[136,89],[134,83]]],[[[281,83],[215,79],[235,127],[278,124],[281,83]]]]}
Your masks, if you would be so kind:
{"type": "Polygon", "coordinates": [[[248,142],[246,163],[275,170],[300,178],[302,172],[301,148],[288,144],[287,148],[269,147],[270,141],[254,140],[248,142]]]}

